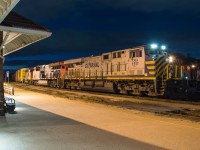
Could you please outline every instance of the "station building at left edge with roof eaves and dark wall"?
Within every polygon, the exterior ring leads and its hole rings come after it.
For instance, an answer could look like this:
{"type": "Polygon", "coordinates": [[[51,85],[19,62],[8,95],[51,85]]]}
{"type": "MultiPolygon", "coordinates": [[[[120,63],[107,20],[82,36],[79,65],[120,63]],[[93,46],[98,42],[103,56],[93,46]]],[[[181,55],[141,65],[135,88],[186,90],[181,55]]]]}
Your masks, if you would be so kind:
{"type": "Polygon", "coordinates": [[[51,32],[12,11],[20,0],[0,0],[0,116],[4,111],[4,56],[51,36],[51,32]]]}

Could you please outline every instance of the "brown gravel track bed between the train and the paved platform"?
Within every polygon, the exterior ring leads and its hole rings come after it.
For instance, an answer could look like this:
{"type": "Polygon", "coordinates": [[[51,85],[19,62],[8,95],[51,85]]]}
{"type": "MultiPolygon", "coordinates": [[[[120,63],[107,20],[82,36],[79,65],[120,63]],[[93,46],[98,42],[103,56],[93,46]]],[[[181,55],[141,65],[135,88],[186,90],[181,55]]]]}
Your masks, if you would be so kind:
{"type": "Polygon", "coordinates": [[[139,97],[94,91],[56,89],[22,83],[13,83],[13,86],[70,100],[95,102],[123,109],[154,113],[159,116],[175,117],[200,122],[200,102],[166,100],[155,97],[139,97]]]}

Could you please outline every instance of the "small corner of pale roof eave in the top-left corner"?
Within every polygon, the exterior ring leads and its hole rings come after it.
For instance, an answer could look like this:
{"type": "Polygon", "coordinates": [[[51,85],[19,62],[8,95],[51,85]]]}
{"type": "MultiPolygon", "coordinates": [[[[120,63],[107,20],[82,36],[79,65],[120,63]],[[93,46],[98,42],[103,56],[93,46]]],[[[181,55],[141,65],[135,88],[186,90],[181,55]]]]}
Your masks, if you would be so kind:
{"type": "Polygon", "coordinates": [[[20,0],[0,0],[0,23],[20,0]]]}

